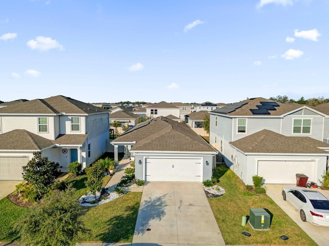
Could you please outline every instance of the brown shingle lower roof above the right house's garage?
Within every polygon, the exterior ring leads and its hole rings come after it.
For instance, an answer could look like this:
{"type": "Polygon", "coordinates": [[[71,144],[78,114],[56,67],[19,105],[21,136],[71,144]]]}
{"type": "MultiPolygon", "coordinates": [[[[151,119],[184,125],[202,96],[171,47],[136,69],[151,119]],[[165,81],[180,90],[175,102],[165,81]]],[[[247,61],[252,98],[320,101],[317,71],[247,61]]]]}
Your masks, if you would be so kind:
{"type": "Polygon", "coordinates": [[[329,154],[318,148],[329,148],[325,142],[311,137],[284,136],[266,129],[230,144],[244,153],[329,154]]]}

